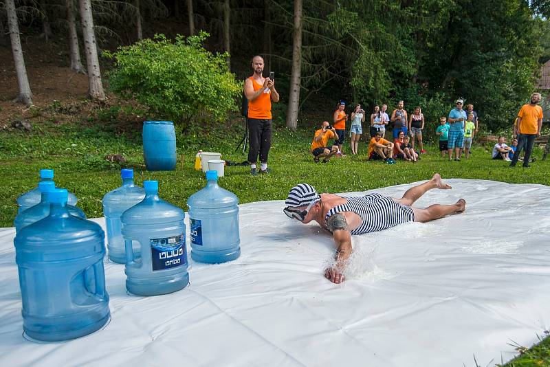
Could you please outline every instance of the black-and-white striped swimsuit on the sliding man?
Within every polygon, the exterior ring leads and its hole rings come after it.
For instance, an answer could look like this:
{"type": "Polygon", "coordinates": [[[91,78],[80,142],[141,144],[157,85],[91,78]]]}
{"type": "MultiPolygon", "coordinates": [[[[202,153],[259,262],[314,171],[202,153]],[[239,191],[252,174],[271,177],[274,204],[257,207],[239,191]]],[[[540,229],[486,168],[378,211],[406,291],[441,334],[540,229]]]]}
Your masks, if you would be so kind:
{"type": "Polygon", "coordinates": [[[395,202],[391,197],[366,194],[364,197],[344,197],[344,199],[348,202],[329,210],[325,216],[325,222],[329,216],[340,212],[358,214],[363,221],[359,227],[350,232],[351,234],[381,231],[400,223],[415,221],[412,208],[395,202]]]}

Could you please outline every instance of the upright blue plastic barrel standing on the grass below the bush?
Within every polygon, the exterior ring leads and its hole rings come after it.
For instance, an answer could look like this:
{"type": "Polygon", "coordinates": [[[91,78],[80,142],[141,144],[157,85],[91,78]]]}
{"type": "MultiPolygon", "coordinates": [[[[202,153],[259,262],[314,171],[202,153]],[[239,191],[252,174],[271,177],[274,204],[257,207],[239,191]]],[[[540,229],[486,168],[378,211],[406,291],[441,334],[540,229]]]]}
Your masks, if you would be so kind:
{"type": "Polygon", "coordinates": [[[143,158],[147,170],[176,168],[176,133],[173,122],[143,123],[143,158]]]}

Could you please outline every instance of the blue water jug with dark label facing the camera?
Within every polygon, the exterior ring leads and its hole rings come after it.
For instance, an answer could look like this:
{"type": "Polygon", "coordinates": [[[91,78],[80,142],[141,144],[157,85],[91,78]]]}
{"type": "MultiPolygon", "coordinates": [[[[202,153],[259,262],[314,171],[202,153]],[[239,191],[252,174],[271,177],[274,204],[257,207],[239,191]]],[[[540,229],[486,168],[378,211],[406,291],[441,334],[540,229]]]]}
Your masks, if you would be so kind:
{"type": "Polygon", "coordinates": [[[189,283],[185,213],[159,198],[158,182],[144,181],[145,199],[122,213],[126,289],[138,296],[172,293],[189,283]],[[141,258],[132,241],[140,243],[141,258]]]}

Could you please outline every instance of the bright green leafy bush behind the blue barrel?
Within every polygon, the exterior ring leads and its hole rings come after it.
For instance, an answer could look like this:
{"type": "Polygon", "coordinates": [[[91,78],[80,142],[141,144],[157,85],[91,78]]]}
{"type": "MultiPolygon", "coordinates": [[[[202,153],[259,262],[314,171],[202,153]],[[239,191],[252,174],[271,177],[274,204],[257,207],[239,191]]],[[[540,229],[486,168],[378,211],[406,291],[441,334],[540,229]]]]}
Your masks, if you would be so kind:
{"type": "Polygon", "coordinates": [[[157,34],[133,45],[119,47],[109,74],[109,88],[124,98],[135,98],[155,113],[155,120],[189,122],[197,113],[221,121],[236,111],[241,93],[234,74],[228,71],[226,54],[211,54],[201,45],[201,32],[175,41],[157,34]]]}

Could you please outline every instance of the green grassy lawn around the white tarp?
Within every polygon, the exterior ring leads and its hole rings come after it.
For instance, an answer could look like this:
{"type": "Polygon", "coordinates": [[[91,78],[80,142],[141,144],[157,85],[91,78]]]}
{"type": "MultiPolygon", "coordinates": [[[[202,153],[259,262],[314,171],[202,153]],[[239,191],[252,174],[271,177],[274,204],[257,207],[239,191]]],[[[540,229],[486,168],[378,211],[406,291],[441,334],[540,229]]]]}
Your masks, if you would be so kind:
{"type": "MultiPolygon", "coordinates": [[[[0,227],[11,227],[17,213],[17,196],[36,187],[41,168],[55,170],[56,186],[68,188],[78,197],[78,206],[87,216],[102,216],[101,200],[109,190],[120,186],[120,168],[104,157],[122,154],[125,165],[134,168],[136,181],[159,181],[160,196],[186,209],[190,194],[201,189],[203,174],[193,169],[198,148],[216,151],[223,159],[242,162],[242,149],[234,153],[243,135],[243,122],[188,129],[177,134],[178,164],[171,172],[148,172],[142,153],[140,122],[125,124],[88,119],[72,124],[33,122],[32,133],[0,131],[0,227]]],[[[443,178],[490,179],[509,183],[549,183],[550,162],[542,162],[542,151],[536,148],[538,161],[531,168],[509,168],[507,162],[493,161],[490,148],[476,146],[470,159],[448,162],[442,159],[436,144],[429,144],[427,155],[417,164],[398,162],[366,162],[366,145],[360,154],[332,159],[328,164],[315,164],[309,153],[314,126],[292,133],[276,128],[270,151],[271,175],[252,177],[250,168],[227,166],[220,185],[234,192],[241,203],[285,199],[287,192],[299,182],[308,182],[320,192],[369,190],[401,183],[429,179],[439,172],[443,178]]],[[[349,152],[344,146],[344,152],[349,152]]],[[[281,213],[281,215],[283,215],[281,213]]],[[[550,342],[533,348],[507,366],[550,366],[550,342]]]]}

